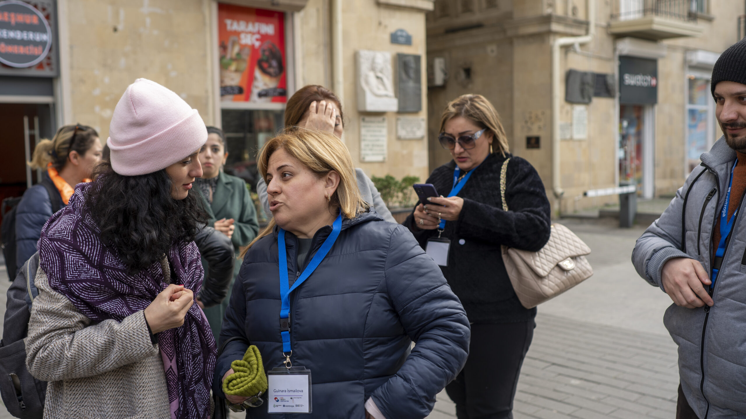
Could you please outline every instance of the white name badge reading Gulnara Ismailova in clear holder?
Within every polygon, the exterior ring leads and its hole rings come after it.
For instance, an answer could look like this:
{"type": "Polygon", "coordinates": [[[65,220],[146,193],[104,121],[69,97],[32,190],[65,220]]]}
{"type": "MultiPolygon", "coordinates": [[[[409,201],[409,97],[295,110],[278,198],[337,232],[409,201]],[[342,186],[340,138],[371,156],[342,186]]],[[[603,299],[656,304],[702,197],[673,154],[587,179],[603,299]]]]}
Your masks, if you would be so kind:
{"type": "Polygon", "coordinates": [[[311,371],[305,367],[272,368],[267,373],[268,413],[310,413],[311,371]]]}

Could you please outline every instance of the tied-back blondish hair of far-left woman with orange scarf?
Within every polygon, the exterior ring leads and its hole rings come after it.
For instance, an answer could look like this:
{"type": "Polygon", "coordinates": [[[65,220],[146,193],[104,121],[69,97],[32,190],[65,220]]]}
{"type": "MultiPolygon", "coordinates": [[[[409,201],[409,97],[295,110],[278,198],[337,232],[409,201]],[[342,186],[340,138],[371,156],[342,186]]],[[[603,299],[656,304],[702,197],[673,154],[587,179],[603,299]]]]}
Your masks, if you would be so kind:
{"type": "Polygon", "coordinates": [[[65,167],[70,151],[77,151],[82,157],[96,138],[96,130],[87,125],[63,125],[51,141],[43,139],[36,145],[31,161],[27,164],[31,168],[46,169],[51,163],[54,168],[60,170],[65,167]]]}

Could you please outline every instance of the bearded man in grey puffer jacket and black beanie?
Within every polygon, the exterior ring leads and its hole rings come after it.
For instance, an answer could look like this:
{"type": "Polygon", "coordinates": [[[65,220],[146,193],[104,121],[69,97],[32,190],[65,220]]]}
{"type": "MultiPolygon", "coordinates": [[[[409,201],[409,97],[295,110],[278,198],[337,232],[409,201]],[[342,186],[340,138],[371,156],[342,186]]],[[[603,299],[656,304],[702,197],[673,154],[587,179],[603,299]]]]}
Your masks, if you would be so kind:
{"type": "Polygon", "coordinates": [[[746,41],[712,71],[724,136],[637,240],[637,272],[674,301],[663,322],[679,346],[677,419],[746,418],[746,41]]]}

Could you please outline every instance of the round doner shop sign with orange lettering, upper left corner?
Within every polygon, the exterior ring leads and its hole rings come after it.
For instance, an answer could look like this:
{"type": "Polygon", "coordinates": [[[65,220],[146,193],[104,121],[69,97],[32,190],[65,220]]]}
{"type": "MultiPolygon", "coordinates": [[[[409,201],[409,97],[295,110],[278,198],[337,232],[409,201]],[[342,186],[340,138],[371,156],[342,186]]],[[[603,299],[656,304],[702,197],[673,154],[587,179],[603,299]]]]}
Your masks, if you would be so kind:
{"type": "Polygon", "coordinates": [[[52,31],[36,7],[23,1],[0,1],[0,63],[35,66],[49,54],[52,31]]]}

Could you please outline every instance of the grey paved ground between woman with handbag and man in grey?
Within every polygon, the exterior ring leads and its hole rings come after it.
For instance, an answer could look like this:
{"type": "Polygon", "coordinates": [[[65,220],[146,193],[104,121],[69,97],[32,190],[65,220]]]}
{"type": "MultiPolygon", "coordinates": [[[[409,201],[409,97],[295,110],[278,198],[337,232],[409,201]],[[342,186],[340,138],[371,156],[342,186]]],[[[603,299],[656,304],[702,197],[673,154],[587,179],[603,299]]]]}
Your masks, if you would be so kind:
{"type": "MultiPolygon", "coordinates": [[[[666,294],[635,272],[630,255],[642,227],[562,220],[591,248],[594,276],[539,306],[515,419],[674,418],[676,345],[662,326],[666,294]]],[[[430,419],[455,418],[443,391],[430,419]]]]}

